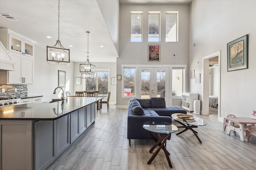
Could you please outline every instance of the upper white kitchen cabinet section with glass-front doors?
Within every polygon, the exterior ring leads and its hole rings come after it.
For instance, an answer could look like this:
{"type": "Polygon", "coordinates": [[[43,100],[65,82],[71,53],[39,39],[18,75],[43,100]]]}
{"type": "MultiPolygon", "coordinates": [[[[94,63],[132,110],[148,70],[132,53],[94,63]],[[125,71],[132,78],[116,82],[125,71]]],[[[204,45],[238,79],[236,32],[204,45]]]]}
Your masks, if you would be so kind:
{"type": "Polygon", "coordinates": [[[0,35],[0,41],[2,41],[8,51],[34,57],[34,44],[36,41],[20,35],[8,28],[1,28],[0,35]]]}

